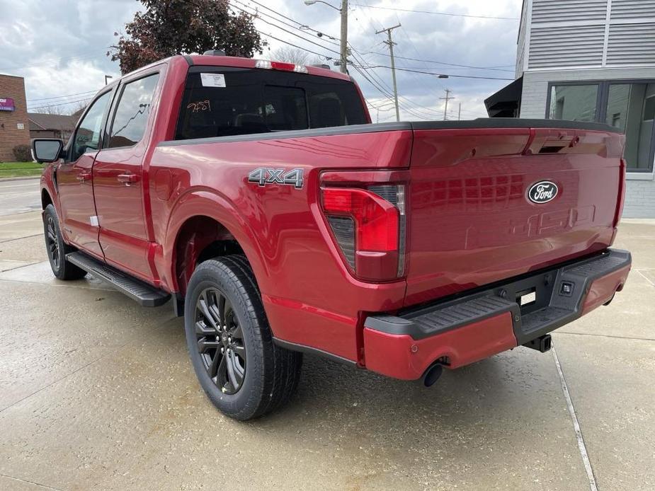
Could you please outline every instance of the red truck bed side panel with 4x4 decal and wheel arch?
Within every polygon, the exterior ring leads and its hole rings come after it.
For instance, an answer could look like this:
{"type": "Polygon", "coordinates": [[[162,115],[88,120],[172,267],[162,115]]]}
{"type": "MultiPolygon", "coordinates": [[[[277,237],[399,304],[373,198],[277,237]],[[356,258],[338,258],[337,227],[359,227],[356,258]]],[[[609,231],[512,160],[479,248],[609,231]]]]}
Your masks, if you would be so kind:
{"type": "Polygon", "coordinates": [[[210,216],[244,248],[275,337],[356,359],[359,312],[400,308],[406,284],[360,282],[348,272],[319,209],[319,169],[409,166],[411,132],[235,142],[221,144],[219,154],[216,148],[163,146],[152,156],[151,172],[170,172],[173,186],[169,200],[151,199],[155,241],[164,244],[162,283],[180,288],[172,270],[178,230],[193,216],[210,216]],[[301,190],[247,182],[253,168],[290,162],[303,168],[301,190]]]}

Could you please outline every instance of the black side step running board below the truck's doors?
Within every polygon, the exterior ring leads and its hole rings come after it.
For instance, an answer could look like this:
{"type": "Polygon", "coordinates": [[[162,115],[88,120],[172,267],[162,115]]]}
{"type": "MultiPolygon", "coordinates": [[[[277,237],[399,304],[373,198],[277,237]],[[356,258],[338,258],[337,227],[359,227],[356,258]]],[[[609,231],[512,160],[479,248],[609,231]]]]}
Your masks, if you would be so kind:
{"type": "Polygon", "coordinates": [[[83,253],[69,253],[66,260],[91,275],[108,282],[112,287],[136,300],[144,307],[158,307],[166,304],[171,295],[151,285],[135,279],[123,272],[91,258],[83,253]]]}

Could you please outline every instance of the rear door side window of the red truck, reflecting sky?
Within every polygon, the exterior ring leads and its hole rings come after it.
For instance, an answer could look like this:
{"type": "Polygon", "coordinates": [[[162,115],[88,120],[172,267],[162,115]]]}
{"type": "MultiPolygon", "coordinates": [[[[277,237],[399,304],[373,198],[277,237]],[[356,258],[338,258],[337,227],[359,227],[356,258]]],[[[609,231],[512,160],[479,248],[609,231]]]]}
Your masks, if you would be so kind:
{"type": "Polygon", "coordinates": [[[127,83],[118,100],[106,148],[137,144],[146,131],[159,74],[127,83]]]}

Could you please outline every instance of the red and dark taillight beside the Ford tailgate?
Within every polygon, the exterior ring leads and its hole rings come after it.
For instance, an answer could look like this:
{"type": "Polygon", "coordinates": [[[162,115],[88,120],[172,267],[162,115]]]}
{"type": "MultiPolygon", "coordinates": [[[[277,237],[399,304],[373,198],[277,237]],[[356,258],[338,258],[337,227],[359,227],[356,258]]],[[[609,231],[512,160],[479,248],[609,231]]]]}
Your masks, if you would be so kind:
{"type": "Polygon", "coordinates": [[[323,187],[323,211],[355,276],[387,281],[404,275],[405,187],[323,187]]]}

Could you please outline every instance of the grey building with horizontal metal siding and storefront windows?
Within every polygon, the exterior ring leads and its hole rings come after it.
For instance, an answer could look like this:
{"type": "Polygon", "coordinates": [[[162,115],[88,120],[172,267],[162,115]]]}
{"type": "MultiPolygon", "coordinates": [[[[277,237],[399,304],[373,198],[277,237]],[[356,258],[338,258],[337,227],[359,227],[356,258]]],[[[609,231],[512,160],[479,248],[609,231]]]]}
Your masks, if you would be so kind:
{"type": "Polygon", "coordinates": [[[491,117],[620,127],[624,216],[655,218],[655,0],[523,0],[516,81],[485,102],[491,117]]]}

